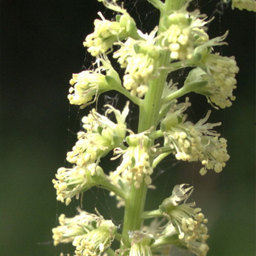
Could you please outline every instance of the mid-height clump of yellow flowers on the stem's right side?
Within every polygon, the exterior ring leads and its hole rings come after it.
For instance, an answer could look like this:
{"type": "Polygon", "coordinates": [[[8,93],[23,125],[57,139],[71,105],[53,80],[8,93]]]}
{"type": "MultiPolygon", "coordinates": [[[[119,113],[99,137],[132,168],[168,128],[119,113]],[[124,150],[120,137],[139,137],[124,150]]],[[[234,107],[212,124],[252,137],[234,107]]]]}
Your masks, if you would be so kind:
{"type": "Polygon", "coordinates": [[[167,120],[163,120],[165,124],[164,145],[173,150],[178,160],[201,161],[204,165],[200,170],[202,175],[207,172],[207,169],[214,169],[217,173],[221,172],[226,165],[225,162],[229,159],[227,140],[219,138],[220,134],[212,130],[214,126],[221,123],[205,124],[210,113],[211,111],[208,111],[206,116],[196,124],[185,122],[186,116],[182,116],[179,110],[169,113],[165,118],[167,120]]]}

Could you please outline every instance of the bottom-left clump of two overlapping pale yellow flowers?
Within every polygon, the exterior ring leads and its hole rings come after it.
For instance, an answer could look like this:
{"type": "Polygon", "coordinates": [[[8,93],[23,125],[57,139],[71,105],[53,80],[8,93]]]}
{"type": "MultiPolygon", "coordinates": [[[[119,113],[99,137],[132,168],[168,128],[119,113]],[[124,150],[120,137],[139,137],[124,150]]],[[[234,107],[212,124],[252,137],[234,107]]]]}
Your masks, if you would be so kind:
{"type": "Polygon", "coordinates": [[[77,256],[100,256],[111,245],[117,227],[111,220],[104,220],[99,214],[78,209],[79,215],[59,217],[60,226],[52,229],[54,245],[70,243],[76,246],[77,256]]]}

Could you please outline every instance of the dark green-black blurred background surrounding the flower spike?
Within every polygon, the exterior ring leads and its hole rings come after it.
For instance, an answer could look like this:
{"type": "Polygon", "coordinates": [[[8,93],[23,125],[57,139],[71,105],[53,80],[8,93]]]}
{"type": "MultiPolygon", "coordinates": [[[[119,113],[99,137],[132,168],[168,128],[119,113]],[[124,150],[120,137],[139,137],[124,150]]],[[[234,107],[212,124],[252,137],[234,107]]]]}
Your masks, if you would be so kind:
{"type": "MultiPolygon", "coordinates": [[[[143,31],[150,31],[158,12],[145,0],[124,1],[143,31]],[[140,13],[140,14],[139,14],[140,13]]],[[[195,187],[191,196],[209,219],[208,256],[255,255],[255,14],[231,10],[219,1],[197,1],[203,13],[215,16],[210,37],[229,29],[227,42],[218,50],[236,56],[237,96],[231,108],[215,110],[204,97],[189,95],[196,122],[212,109],[211,122],[228,140],[231,159],[220,174],[198,174],[197,164],[165,160],[153,175],[157,192],[148,192],[146,209],[155,209],[171,195],[175,184],[195,187]]],[[[91,58],[82,43],[93,31],[100,10],[108,19],[111,11],[96,0],[1,1],[1,256],[58,256],[73,253],[70,245],[52,244],[57,217],[76,213],[78,201],[66,207],[56,202],[52,179],[76,141],[80,117],[87,114],[67,100],[72,73],[89,68],[91,58]]],[[[174,77],[184,80],[186,72],[174,77]]],[[[109,92],[115,97],[115,92],[109,92]]],[[[121,107],[123,98],[113,103],[121,107]]],[[[100,96],[99,106],[110,98],[100,96]]],[[[99,109],[100,109],[99,107],[99,109]]],[[[133,117],[137,109],[133,106],[133,117]]],[[[136,122],[135,122],[136,123],[136,122]]],[[[129,120],[134,124],[134,119],[129,120]]],[[[102,166],[106,171],[113,166],[102,166]]],[[[83,207],[97,207],[105,218],[122,225],[123,209],[101,189],[84,194],[83,207]]],[[[187,255],[174,251],[173,255],[187,255]]]]}

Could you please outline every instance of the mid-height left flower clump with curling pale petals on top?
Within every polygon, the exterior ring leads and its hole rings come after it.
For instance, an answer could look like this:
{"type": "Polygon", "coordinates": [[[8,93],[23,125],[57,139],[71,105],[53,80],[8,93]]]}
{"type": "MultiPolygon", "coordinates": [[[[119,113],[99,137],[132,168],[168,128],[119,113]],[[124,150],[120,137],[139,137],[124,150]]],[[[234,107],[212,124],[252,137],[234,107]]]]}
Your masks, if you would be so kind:
{"type": "Polygon", "coordinates": [[[127,102],[123,112],[107,105],[106,115],[114,112],[117,123],[100,115],[92,109],[88,116],[82,118],[83,128],[86,132],[77,133],[76,145],[67,153],[67,161],[72,164],[92,164],[106,155],[110,150],[123,143],[126,134],[125,118],[129,113],[127,102]]]}

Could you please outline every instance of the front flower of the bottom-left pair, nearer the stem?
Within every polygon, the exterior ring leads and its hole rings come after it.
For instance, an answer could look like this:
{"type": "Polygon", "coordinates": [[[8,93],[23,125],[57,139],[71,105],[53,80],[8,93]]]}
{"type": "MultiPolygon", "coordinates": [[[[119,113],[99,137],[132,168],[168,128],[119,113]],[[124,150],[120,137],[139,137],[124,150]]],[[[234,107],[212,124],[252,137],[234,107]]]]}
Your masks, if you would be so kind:
{"type": "Polygon", "coordinates": [[[73,245],[77,256],[99,256],[115,238],[117,227],[111,220],[101,220],[91,232],[76,236],[73,245]]]}

